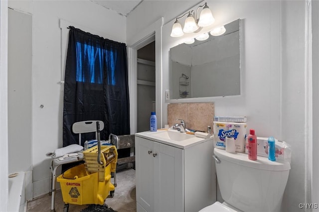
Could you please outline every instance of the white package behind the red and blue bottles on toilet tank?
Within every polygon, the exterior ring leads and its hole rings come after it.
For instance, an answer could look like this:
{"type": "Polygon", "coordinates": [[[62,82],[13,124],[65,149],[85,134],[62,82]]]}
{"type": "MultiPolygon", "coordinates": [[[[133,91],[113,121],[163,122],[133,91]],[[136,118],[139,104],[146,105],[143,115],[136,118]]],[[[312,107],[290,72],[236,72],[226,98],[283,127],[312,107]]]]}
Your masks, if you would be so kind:
{"type": "MultiPolygon", "coordinates": [[[[248,141],[246,139],[245,153],[248,154],[248,141]]],[[[268,138],[257,137],[257,155],[268,157],[268,138]]],[[[276,159],[291,162],[291,147],[285,141],[275,139],[275,156],[276,159]]]]}

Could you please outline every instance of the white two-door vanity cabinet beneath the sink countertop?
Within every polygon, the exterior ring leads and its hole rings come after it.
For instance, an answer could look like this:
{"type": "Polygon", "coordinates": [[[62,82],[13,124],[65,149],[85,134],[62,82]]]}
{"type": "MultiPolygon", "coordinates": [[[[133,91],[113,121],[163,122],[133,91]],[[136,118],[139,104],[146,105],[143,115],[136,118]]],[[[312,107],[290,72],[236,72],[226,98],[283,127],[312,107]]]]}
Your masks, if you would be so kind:
{"type": "Polygon", "coordinates": [[[212,139],[179,148],[137,133],[137,212],[198,212],[216,201],[212,139]]]}

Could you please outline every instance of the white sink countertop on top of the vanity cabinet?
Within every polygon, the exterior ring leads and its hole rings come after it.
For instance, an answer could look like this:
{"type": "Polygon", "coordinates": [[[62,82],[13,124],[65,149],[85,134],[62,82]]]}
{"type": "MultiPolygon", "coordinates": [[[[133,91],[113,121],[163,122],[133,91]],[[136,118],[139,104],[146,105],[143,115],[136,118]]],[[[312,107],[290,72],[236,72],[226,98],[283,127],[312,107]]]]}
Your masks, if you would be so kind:
{"type": "MultiPolygon", "coordinates": [[[[169,129],[169,130],[175,131],[176,133],[186,134],[185,132],[178,132],[177,130],[171,130],[171,129],[169,129]]],[[[174,146],[174,147],[177,147],[180,149],[186,149],[186,148],[189,148],[189,147],[194,146],[196,144],[205,142],[207,140],[213,140],[213,136],[211,136],[210,138],[204,139],[204,138],[199,138],[199,137],[196,137],[195,135],[192,135],[192,137],[190,139],[186,139],[186,140],[182,140],[182,141],[175,141],[175,140],[166,139],[166,138],[162,138],[162,137],[157,136],[157,134],[159,132],[162,132],[162,131],[165,131],[165,130],[158,130],[157,132],[151,132],[151,131],[138,132],[138,133],[135,133],[135,135],[138,137],[157,141],[159,143],[174,146]]]]}

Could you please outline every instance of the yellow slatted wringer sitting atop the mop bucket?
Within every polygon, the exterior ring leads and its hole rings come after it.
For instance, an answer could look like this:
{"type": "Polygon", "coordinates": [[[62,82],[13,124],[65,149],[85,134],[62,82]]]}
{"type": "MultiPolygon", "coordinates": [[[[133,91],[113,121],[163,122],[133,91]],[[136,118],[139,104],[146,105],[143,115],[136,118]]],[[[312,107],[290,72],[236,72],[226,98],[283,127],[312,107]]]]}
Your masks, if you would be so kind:
{"type": "Polygon", "coordinates": [[[108,170],[105,167],[110,165],[110,171],[116,171],[116,163],[118,160],[118,152],[115,146],[101,146],[100,162],[98,162],[98,146],[93,146],[83,151],[85,168],[89,173],[97,172],[99,181],[104,181],[105,172],[108,170]]]}

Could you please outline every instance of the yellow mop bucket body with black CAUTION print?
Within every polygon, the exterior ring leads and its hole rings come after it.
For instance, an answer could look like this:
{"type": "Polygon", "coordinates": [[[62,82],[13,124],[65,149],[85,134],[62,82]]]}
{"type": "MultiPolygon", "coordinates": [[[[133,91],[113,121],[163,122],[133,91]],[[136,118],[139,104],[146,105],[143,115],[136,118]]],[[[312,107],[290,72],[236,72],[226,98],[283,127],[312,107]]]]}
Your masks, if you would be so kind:
{"type": "Polygon", "coordinates": [[[63,202],[74,205],[103,205],[109,192],[114,191],[111,183],[111,165],[105,167],[104,181],[98,180],[98,172],[89,174],[80,164],[57,177],[60,182],[63,202]]]}

